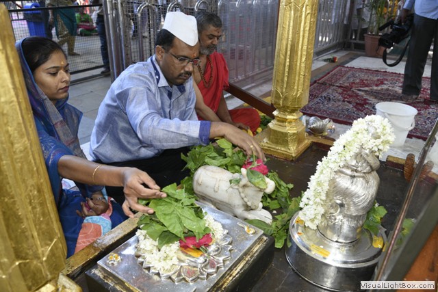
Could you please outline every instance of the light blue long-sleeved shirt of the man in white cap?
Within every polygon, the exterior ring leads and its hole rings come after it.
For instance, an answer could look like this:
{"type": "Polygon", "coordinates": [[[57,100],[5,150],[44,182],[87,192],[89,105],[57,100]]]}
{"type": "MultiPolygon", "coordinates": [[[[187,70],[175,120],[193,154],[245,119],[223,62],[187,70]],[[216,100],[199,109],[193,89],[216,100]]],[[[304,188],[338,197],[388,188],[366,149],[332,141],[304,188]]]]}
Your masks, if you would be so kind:
{"type": "Polygon", "coordinates": [[[90,155],[104,163],[148,159],[163,150],[209,143],[211,122],[198,121],[193,79],[169,86],[155,55],[129,66],[99,107],[90,155]]]}

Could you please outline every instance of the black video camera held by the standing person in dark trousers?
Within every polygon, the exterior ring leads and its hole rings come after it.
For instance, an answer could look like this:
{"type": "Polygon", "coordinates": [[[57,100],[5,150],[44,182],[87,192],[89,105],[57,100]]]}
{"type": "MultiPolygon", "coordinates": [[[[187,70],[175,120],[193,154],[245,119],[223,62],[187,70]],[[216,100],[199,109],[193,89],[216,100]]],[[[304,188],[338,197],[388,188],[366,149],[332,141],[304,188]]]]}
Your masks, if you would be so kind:
{"type": "Polygon", "coordinates": [[[389,34],[383,34],[383,36],[378,39],[378,45],[387,49],[392,48],[394,44],[398,44],[409,36],[409,30],[411,29],[412,25],[413,14],[409,14],[404,23],[402,23],[401,20],[398,21],[398,23],[394,23],[394,19],[391,19],[378,28],[379,31],[382,31],[389,26],[391,26],[392,29],[389,34]]]}

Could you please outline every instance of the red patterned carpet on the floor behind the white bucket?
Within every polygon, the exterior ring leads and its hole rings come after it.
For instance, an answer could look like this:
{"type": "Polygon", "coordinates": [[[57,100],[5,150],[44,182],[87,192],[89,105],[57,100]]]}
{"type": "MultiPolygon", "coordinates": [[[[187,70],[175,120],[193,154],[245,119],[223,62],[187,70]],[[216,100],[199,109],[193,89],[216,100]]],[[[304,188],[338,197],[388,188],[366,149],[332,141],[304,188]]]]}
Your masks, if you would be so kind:
{"type": "MultiPolygon", "coordinates": [[[[310,86],[309,103],[303,114],[352,124],[376,114],[377,103],[400,101],[403,75],[392,72],[337,66],[310,86]]],[[[438,103],[429,101],[430,78],[423,77],[420,98],[407,103],[417,109],[415,128],[408,137],[426,140],[438,118],[438,103]]]]}

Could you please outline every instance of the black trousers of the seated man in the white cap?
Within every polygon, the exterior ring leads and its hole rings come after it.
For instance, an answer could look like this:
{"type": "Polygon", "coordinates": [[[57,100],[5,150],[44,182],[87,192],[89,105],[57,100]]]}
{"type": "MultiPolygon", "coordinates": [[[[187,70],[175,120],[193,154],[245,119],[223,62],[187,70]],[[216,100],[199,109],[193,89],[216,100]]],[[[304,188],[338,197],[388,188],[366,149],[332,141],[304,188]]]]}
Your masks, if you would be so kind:
{"type": "MultiPolygon", "coordinates": [[[[166,187],[172,183],[179,185],[180,181],[186,176],[190,175],[190,170],[183,170],[185,161],[181,159],[181,153],[187,155],[189,148],[183,147],[178,149],[164,150],[161,155],[151,157],[148,159],[122,161],[105,163],[114,166],[129,166],[131,168],[138,168],[147,172],[151,178],[155,180],[159,187],[166,187]]],[[[101,163],[101,161],[96,161],[101,163]]],[[[123,194],[123,187],[105,187],[108,196],[111,196],[119,204],[125,201],[123,194]]]]}

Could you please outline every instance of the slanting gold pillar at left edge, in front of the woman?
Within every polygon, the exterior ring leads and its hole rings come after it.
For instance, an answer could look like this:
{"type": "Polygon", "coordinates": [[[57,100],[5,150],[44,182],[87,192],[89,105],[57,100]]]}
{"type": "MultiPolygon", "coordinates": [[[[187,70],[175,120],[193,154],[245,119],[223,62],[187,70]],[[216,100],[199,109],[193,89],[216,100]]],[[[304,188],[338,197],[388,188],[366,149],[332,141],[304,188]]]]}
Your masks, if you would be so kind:
{"type": "Polygon", "coordinates": [[[56,291],[66,243],[3,4],[0,27],[0,287],[56,291]]]}

